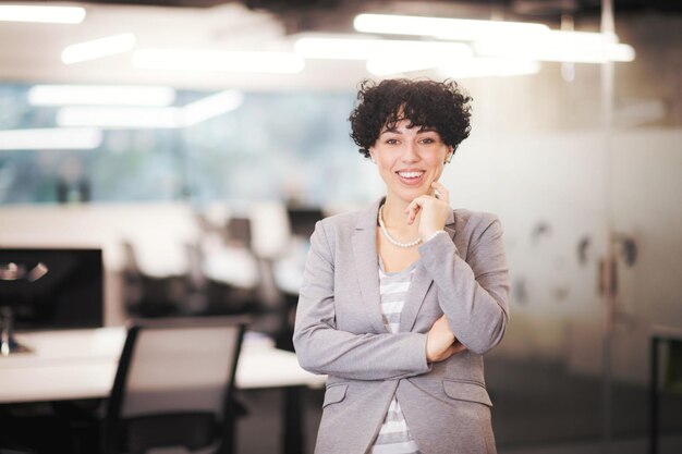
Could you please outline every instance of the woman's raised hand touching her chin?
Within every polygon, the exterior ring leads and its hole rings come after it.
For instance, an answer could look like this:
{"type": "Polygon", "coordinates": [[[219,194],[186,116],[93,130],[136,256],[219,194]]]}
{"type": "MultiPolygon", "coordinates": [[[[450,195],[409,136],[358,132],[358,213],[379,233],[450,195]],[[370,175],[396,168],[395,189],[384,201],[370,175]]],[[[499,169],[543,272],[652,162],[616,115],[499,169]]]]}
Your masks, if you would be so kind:
{"type": "Polygon", "coordinates": [[[423,195],[414,200],[405,209],[407,224],[417,220],[419,223],[419,236],[424,240],[446,226],[446,220],[450,214],[450,193],[448,188],[439,182],[431,183],[431,187],[438,191],[435,195],[423,195]]]}

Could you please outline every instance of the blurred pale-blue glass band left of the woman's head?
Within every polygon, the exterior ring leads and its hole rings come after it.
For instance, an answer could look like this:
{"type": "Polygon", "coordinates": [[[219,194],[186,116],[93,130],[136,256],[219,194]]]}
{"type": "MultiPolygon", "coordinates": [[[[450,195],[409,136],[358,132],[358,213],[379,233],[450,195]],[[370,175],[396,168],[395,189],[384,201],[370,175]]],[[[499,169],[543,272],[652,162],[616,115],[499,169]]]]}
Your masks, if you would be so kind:
{"type": "Polygon", "coordinates": [[[125,124],[132,114],[125,108],[32,106],[36,86],[0,87],[0,105],[7,108],[0,132],[19,130],[33,139],[12,149],[13,137],[0,135],[5,143],[0,146],[2,205],[263,198],[321,204],[362,197],[357,172],[345,165],[353,150],[345,121],[353,94],[232,90],[240,97],[233,110],[209,111],[192,124],[155,124],[216,95],[178,90],[175,105],[137,109],[133,113],[142,110],[143,121],[125,124]],[[74,109],[85,119],[70,132],[74,109]],[[106,126],[96,125],[99,140],[86,149],[40,140],[60,121],[66,122],[60,130],[74,138],[93,115],[106,126]],[[320,168],[327,170],[314,171],[320,168]]]}

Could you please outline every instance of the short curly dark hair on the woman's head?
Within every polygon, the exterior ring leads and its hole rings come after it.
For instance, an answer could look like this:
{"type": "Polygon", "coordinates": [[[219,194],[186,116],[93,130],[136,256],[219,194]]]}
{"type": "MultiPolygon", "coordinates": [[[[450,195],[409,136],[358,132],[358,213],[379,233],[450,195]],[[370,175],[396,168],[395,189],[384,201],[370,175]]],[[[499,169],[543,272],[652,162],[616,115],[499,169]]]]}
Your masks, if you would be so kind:
{"type": "Polygon", "coordinates": [[[360,152],[369,157],[381,128],[395,126],[407,119],[411,126],[433,127],[452,152],[468,137],[472,98],[464,95],[454,81],[412,81],[391,78],[378,85],[363,81],[357,90],[357,105],[349,120],[351,138],[360,152]]]}

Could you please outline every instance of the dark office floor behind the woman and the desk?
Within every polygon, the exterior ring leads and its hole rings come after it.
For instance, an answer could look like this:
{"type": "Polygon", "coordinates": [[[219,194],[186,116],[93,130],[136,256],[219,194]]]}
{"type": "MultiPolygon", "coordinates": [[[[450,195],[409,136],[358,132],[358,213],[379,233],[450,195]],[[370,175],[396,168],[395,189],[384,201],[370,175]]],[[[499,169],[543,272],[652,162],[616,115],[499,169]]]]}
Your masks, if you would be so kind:
{"type": "MultiPolygon", "coordinates": [[[[612,388],[611,444],[601,443],[601,382],[560,366],[489,359],[486,376],[500,454],[648,453],[647,389],[612,388]]],[[[242,392],[249,415],[239,422],[239,454],[278,453],[281,393],[242,392]]],[[[306,454],[313,453],[324,392],[303,393],[306,454]]],[[[661,398],[659,454],[682,453],[682,395],[661,398]]],[[[456,451],[453,451],[455,453],[456,451]]]]}

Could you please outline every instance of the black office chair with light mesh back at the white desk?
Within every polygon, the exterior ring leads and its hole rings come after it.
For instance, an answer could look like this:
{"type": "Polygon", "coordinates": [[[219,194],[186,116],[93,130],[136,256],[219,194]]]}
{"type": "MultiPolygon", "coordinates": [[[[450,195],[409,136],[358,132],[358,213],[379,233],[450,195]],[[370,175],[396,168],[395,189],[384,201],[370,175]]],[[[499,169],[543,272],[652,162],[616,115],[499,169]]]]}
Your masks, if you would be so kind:
{"type": "Polygon", "coordinates": [[[234,376],[248,319],[145,320],[129,329],[102,434],[102,453],[182,446],[232,453],[234,376]]]}

